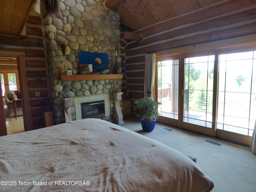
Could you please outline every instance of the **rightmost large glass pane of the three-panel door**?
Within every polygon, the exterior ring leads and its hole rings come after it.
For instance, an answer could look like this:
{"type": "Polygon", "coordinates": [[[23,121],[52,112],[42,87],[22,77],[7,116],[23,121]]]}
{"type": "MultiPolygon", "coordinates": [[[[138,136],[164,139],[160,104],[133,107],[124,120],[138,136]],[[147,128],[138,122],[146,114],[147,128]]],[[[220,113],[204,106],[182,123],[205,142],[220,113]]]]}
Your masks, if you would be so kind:
{"type": "Polygon", "coordinates": [[[252,136],[256,119],[256,51],[220,54],[217,129],[252,136]]]}

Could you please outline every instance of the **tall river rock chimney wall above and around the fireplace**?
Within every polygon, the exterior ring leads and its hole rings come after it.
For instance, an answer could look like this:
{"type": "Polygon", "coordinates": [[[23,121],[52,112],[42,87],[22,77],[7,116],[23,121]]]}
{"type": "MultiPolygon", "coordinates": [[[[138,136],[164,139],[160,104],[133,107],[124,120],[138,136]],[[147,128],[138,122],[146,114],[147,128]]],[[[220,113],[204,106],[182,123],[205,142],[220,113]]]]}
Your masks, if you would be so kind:
{"type": "MultiPolygon", "coordinates": [[[[59,0],[57,16],[44,18],[46,52],[48,54],[48,79],[55,124],[65,122],[62,97],[71,97],[121,91],[122,80],[80,80],[60,81],[61,69],[76,70],[79,74],[78,52],[98,52],[108,54],[110,73],[113,72],[116,57],[115,45],[120,48],[120,12],[109,10],[104,0],[59,0]],[[60,42],[66,44],[66,56],[60,49],[60,42]]],[[[117,51],[121,62],[121,51],[117,51]]],[[[120,67],[120,71],[121,67],[120,67]]],[[[110,104],[112,106],[112,99],[110,104]]],[[[111,118],[114,118],[111,107],[111,118]]],[[[72,108],[73,119],[74,108],[72,108]]]]}

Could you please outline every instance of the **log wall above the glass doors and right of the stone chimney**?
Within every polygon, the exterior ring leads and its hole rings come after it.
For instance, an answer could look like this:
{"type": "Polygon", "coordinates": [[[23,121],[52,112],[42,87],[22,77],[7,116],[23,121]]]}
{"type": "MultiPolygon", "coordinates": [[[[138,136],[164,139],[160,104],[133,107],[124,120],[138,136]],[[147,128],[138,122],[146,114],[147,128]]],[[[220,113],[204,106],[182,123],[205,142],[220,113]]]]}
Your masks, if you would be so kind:
{"type": "Polygon", "coordinates": [[[135,33],[142,34],[142,42],[127,42],[125,47],[126,87],[132,101],[144,96],[146,53],[256,34],[256,1],[228,1],[135,33]]]}

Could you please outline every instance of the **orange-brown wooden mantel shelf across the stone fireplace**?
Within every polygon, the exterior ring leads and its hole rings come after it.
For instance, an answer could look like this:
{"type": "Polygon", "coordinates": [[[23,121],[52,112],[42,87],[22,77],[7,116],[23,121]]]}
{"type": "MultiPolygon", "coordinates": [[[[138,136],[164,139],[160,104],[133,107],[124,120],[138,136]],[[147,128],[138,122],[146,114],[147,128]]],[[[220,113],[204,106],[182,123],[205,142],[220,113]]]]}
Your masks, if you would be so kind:
{"type": "Polygon", "coordinates": [[[97,80],[97,79],[122,79],[123,74],[101,75],[60,75],[61,81],[97,80]]]}

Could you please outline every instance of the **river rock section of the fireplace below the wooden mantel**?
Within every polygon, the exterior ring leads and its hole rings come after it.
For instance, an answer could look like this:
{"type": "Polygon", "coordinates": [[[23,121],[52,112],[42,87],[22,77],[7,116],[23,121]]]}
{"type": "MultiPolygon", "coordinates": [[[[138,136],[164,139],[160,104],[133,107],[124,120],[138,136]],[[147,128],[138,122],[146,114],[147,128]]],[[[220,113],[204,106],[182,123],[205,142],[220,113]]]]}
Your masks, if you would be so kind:
{"type": "MultiPolygon", "coordinates": [[[[56,81],[51,92],[52,96],[56,98],[53,106],[55,124],[66,122],[62,100],[66,94],[69,94],[71,98],[74,98],[74,100],[80,97],[94,98],[97,96],[108,95],[109,114],[108,116],[105,114],[107,117],[106,120],[115,122],[116,114],[113,93],[121,92],[121,86],[122,79],[56,81]]],[[[120,105],[122,105],[122,101],[120,101],[120,105]]],[[[77,119],[76,111],[75,104],[73,104],[73,106],[71,106],[72,120],[77,119]]]]}

